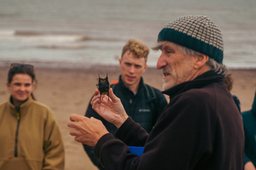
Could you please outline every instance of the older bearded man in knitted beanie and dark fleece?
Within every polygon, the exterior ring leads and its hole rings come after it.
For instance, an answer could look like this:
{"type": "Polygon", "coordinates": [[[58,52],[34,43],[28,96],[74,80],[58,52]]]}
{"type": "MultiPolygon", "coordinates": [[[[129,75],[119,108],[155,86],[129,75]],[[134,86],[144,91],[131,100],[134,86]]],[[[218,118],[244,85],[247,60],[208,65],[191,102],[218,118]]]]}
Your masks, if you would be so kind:
{"type": "Polygon", "coordinates": [[[92,108],[118,128],[116,139],[102,123],[71,114],[67,125],[75,141],[95,146],[106,169],[242,169],[244,131],[224,76],[220,29],[206,16],[182,16],[158,35],[157,69],[164,74],[170,102],[147,134],[127,116],[118,97],[100,100],[95,90],[92,108]],[[127,145],[144,146],[141,157],[127,145]]]}

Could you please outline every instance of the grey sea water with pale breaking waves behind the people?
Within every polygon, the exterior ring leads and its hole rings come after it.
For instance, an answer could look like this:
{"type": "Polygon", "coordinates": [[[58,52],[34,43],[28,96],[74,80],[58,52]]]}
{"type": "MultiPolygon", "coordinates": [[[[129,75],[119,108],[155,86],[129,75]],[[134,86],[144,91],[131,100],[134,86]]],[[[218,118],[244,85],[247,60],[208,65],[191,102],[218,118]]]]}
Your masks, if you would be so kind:
{"type": "MultiPolygon", "coordinates": [[[[220,27],[227,67],[256,68],[255,0],[0,0],[0,66],[117,66],[129,39],[152,46],[181,15],[220,27]]],[[[160,54],[150,50],[148,66],[160,54]]]]}

